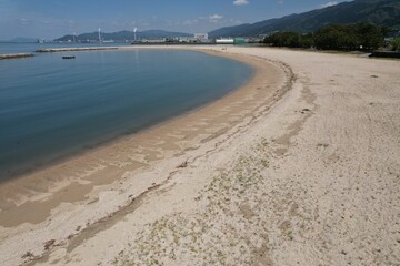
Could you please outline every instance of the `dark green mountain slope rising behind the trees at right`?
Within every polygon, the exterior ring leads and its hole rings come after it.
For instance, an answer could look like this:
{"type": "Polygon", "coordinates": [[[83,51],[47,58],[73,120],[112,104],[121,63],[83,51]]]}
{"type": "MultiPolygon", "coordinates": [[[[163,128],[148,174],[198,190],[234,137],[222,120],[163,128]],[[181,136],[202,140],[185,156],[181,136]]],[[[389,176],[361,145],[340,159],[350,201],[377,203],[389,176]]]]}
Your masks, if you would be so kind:
{"type": "Polygon", "coordinates": [[[221,28],[209,32],[210,38],[256,37],[274,31],[311,32],[328,24],[369,22],[400,30],[399,0],[354,0],[332,7],[316,9],[280,19],[270,19],[253,24],[221,28]]]}

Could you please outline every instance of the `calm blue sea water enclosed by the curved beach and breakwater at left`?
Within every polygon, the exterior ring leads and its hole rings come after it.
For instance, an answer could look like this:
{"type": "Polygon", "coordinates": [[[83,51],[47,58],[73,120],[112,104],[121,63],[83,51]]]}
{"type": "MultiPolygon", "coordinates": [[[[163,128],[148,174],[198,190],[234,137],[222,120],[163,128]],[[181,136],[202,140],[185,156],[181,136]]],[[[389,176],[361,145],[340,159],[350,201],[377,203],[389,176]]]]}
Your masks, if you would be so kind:
{"type": "Polygon", "coordinates": [[[0,181],[199,108],[251,74],[240,62],[193,51],[2,60],[0,181]]]}

